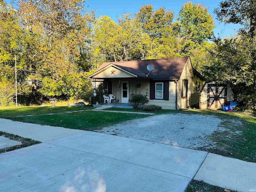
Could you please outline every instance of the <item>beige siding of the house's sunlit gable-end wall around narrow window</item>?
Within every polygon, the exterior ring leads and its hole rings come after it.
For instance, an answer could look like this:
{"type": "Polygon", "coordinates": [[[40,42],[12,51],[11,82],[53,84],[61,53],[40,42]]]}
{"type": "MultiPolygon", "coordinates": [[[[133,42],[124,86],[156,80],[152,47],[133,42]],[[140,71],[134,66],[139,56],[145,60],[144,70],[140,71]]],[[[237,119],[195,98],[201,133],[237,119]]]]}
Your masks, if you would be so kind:
{"type": "Polygon", "coordinates": [[[185,65],[180,80],[178,80],[178,95],[177,95],[177,109],[185,109],[189,106],[190,101],[190,84],[191,84],[191,73],[188,67],[188,63],[185,65]],[[182,80],[188,80],[188,96],[182,98],[182,80]]]}

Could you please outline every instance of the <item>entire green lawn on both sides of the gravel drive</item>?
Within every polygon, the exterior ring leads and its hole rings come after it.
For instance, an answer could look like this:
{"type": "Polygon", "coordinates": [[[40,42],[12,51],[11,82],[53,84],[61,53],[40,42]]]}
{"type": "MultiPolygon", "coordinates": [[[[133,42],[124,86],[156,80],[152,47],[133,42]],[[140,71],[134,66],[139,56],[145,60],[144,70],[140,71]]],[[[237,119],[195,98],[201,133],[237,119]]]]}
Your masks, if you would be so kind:
{"type": "MultiPolygon", "coordinates": [[[[146,118],[149,115],[125,114],[118,112],[84,111],[54,115],[23,116],[28,114],[46,114],[73,110],[92,109],[92,107],[0,107],[0,118],[35,124],[60,126],[81,130],[100,130],[110,126],[136,118],[146,118]]],[[[133,109],[110,108],[107,110],[136,111],[133,109]]],[[[139,112],[145,112],[140,110],[139,112]]],[[[237,158],[248,162],[256,162],[256,117],[242,112],[222,112],[213,110],[156,110],[155,115],[161,114],[201,114],[215,116],[222,120],[218,126],[224,126],[226,131],[216,131],[208,139],[212,141],[211,148],[198,148],[222,156],[237,158]],[[242,122],[238,124],[236,121],[242,122]]],[[[200,123],[200,122],[198,122],[200,123]]]]}

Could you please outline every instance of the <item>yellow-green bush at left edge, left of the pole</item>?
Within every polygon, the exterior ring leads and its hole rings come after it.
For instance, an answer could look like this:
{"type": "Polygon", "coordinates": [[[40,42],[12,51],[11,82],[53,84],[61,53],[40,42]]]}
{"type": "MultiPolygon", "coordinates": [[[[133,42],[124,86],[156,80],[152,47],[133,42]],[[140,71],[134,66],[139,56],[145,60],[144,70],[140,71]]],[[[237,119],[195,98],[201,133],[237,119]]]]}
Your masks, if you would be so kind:
{"type": "Polygon", "coordinates": [[[13,97],[15,94],[15,85],[7,81],[0,82],[0,106],[14,105],[13,97]]]}

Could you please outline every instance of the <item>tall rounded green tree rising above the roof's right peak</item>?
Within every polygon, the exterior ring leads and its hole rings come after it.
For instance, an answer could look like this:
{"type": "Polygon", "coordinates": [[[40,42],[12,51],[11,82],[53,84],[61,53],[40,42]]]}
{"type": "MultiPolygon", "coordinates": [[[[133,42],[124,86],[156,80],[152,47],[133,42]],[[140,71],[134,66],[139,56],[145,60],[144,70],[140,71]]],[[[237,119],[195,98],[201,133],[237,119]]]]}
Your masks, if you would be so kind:
{"type": "Polygon", "coordinates": [[[208,8],[202,4],[186,2],[182,5],[177,21],[172,24],[176,40],[176,56],[190,55],[194,68],[201,71],[208,64],[214,21],[208,8]]]}

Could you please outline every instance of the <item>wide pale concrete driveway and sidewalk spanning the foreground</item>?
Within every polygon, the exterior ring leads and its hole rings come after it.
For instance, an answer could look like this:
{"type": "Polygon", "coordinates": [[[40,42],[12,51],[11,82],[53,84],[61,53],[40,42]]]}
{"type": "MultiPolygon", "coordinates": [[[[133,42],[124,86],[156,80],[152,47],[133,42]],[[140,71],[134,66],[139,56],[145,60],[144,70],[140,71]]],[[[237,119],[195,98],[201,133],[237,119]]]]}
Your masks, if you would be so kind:
{"type": "Polygon", "coordinates": [[[204,151],[5,119],[0,130],[43,142],[0,154],[0,192],[183,192],[194,177],[256,190],[256,164],[204,151]]]}

